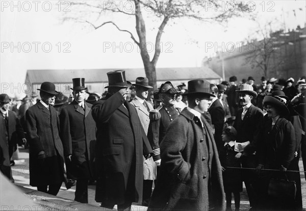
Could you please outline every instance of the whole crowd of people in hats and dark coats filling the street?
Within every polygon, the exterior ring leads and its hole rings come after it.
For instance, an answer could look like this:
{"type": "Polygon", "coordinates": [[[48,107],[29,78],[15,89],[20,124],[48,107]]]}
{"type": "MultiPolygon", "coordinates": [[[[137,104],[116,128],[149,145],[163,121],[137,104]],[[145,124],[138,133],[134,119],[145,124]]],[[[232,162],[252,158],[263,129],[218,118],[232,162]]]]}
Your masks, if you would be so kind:
{"type": "Polygon", "coordinates": [[[43,82],[40,100],[0,95],[0,170],[14,182],[17,146],[29,148],[30,185],[57,195],[76,184],[88,203],[131,210],[302,210],[299,158],[306,169],[305,77],[212,84],[195,79],[157,90],[145,77],[107,73],[103,94],[73,78],[71,95],[43,82]],[[282,190],[286,183],[286,190],[282,190]],[[154,184],[154,186],[153,186],[154,184]],[[152,191],[152,187],[154,187],[152,191]],[[293,187],[290,191],[289,187],[293,187]],[[275,191],[277,190],[277,191],[275,191]],[[286,192],[286,193],[285,193],[286,192]]]}

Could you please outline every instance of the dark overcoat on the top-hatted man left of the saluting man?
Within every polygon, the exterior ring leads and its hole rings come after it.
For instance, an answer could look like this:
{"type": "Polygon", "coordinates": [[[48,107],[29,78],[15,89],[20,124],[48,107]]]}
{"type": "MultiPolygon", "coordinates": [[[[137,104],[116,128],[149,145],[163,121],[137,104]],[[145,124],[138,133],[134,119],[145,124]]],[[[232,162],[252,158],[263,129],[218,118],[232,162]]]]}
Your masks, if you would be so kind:
{"type": "Polygon", "coordinates": [[[74,177],[91,178],[94,176],[95,122],[91,107],[85,103],[85,111],[78,102],[65,106],[60,114],[60,136],[64,147],[64,156],[71,156],[71,165],[67,165],[74,177]]]}

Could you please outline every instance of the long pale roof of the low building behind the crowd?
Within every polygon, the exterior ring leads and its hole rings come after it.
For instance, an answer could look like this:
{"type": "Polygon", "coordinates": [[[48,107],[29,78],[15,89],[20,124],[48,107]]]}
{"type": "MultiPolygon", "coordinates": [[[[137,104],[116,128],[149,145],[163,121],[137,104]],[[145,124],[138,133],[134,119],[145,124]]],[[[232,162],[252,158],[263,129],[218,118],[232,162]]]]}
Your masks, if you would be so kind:
{"type": "MultiPolygon", "coordinates": [[[[72,78],[85,78],[86,83],[107,82],[107,73],[117,69],[36,69],[28,70],[26,82],[42,83],[49,81],[53,83],[71,83],[72,78]]],[[[157,68],[157,81],[220,79],[209,67],[174,67],[157,68]]],[[[125,69],[126,80],[135,81],[137,77],[145,76],[143,68],[125,69]]]]}

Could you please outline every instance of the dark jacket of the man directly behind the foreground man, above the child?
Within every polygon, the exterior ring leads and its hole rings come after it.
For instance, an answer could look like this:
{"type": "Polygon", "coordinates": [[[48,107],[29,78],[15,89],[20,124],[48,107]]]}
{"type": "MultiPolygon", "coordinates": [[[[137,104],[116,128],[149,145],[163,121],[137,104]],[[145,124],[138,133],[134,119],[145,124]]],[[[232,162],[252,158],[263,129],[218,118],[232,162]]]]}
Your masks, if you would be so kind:
{"type": "Polygon", "coordinates": [[[218,150],[222,147],[222,131],[224,126],[224,109],[219,99],[215,100],[208,109],[211,114],[212,124],[215,127],[215,142],[218,150]]]}

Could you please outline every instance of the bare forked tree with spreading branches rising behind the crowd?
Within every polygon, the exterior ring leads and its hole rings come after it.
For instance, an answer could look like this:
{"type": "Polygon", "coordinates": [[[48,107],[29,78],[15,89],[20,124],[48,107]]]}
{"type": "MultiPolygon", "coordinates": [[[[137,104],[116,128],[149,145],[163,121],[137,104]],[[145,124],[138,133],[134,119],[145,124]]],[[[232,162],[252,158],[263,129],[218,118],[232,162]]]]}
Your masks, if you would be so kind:
{"type": "MultiPolygon", "coordinates": [[[[133,4],[133,10],[126,10],[123,7],[118,7],[118,1],[86,1],[72,2],[71,6],[78,9],[77,13],[67,13],[63,20],[73,20],[81,23],[88,24],[93,29],[99,29],[107,24],[111,24],[118,29],[118,31],[125,32],[131,36],[131,39],[139,46],[140,55],[143,61],[146,77],[149,79],[149,83],[156,89],[156,64],[160,57],[161,48],[160,41],[164,29],[170,20],[177,18],[192,18],[203,22],[216,22],[226,23],[228,19],[232,17],[241,16],[243,12],[249,12],[250,8],[243,5],[241,2],[226,3],[230,5],[224,5],[216,0],[129,0],[127,2],[133,4]],[[116,3],[117,2],[117,3],[116,3]],[[117,4],[117,5],[116,5],[117,4]],[[115,21],[101,20],[101,16],[106,12],[120,13],[127,16],[134,16],[136,20],[136,33],[131,30],[123,29],[115,21]],[[150,16],[154,21],[160,21],[159,28],[155,37],[155,52],[154,56],[150,58],[146,48],[146,25],[144,20],[144,14],[150,16]],[[93,20],[95,16],[95,20],[93,20]],[[101,22],[98,22],[98,21],[101,22]],[[98,22],[98,23],[96,23],[98,22]]],[[[74,10],[75,10],[74,8],[74,10]]]]}

